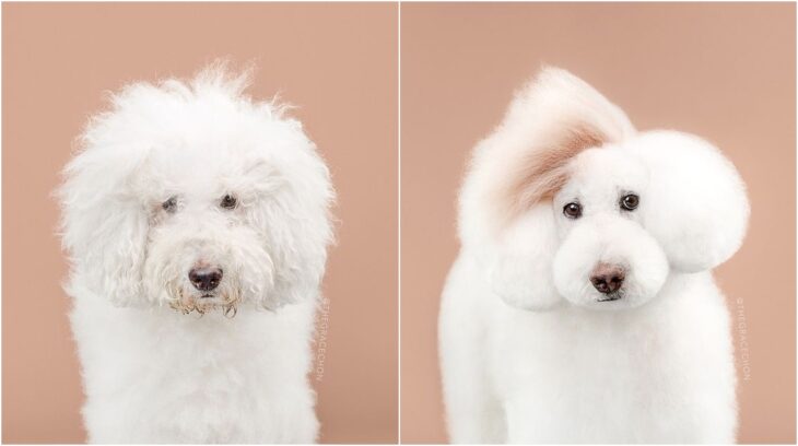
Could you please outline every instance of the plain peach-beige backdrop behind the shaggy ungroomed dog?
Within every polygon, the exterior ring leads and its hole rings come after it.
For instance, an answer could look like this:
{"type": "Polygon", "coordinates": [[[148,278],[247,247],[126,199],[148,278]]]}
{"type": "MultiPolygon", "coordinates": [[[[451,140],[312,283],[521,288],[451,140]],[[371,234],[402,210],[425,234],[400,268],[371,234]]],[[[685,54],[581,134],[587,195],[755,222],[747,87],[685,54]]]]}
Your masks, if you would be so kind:
{"type": "Polygon", "coordinates": [[[324,287],[322,442],[397,437],[397,5],[3,4],[3,442],[85,439],[48,197],[103,92],[255,59],[328,160],[339,245],[324,287]]]}

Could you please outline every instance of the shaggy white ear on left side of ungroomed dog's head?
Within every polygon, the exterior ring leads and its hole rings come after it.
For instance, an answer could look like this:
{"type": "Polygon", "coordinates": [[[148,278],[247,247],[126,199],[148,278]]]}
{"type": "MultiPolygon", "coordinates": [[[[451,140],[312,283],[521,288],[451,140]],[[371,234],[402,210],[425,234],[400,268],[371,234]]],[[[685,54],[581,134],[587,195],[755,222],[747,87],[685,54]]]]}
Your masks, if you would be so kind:
{"type": "Polygon", "coordinates": [[[149,219],[132,184],[146,150],[87,141],[64,168],[66,180],[57,191],[71,274],[84,278],[81,283],[91,292],[117,306],[137,306],[144,303],[141,267],[149,219]]]}

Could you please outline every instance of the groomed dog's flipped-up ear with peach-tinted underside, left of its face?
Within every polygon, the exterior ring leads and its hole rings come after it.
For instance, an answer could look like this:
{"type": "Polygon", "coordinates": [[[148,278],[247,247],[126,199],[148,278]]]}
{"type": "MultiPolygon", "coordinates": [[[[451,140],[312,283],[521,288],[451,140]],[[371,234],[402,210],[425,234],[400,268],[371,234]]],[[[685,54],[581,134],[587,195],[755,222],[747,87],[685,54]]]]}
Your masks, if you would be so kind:
{"type": "Polygon", "coordinates": [[[560,301],[551,274],[558,245],[551,200],[574,156],[634,132],[623,111],[590,85],[547,68],[477,146],[460,192],[459,234],[507,304],[541,309],[560,301]]]}

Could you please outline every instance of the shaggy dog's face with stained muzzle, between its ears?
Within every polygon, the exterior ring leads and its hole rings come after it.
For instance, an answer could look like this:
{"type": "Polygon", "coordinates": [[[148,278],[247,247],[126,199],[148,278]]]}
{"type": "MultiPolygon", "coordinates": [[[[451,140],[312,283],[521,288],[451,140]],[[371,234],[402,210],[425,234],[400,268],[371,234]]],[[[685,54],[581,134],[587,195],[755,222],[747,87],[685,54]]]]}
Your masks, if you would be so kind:
{"type": "Polygon", "coordinates": [[[278,203],[291,178],[237,144],[227,134],[156,151],[137,172],[149,224],[141,279],[157,302],[188,313],[235,312],[243,301],[271,304],[274,256],[284,248],[273,246],[281,235],[261,218],[287,219],[278,203]]]}

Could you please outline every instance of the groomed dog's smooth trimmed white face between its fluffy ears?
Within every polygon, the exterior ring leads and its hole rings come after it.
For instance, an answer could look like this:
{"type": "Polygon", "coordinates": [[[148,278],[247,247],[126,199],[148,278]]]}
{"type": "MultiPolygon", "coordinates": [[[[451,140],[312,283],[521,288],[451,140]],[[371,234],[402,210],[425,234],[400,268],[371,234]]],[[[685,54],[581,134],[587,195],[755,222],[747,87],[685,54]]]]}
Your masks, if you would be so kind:
{"type": "Polygon", "coordinates": [[[572,174],[554,196],[553,258],[558,292],[596,308],[636,306],[665,283],[668,261],[642,226],[648,169],[617,148],[589,149],[571,164],[572,174]]]}

